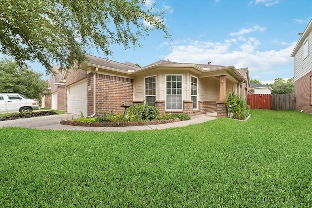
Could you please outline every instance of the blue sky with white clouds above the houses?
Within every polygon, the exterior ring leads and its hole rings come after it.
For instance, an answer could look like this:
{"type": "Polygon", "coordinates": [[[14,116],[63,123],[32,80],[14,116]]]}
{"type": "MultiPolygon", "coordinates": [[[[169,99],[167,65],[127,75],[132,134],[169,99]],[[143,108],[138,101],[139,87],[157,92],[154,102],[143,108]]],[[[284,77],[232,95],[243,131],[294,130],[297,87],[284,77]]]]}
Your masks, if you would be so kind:
{"type": "MultiPolygon", "coordinates": [[[[293,77],[290,55],[312,19],[311,0],[147,0],[153,2],[156,9],[167,9],[165,25],[173,41],[153,31],[142,48],[112,46],[108,59],[141,66],[169,59],[248,67],[251,79],[273,83],[293,77]]],[[[89,54],[104,57],[96,50],[89,54]]],[[[29,65],[48,79],[42,66],[29,65]]]]}

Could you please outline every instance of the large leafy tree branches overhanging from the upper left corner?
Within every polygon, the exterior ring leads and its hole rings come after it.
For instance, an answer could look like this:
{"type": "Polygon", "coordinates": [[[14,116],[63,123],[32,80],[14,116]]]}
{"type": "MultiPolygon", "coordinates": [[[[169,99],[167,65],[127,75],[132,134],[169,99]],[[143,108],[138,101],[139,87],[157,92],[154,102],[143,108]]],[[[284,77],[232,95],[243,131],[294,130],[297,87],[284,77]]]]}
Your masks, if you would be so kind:
{"type": "Polygon", "coordinates": [[[1,0],[0,51],[18,65],[38,61],[47,73],[52,63],[78,67],[91,47],[108,56],[112,44],[141,46],[152,30],[170,38],[164,13],[146,0],[1,0]]]}

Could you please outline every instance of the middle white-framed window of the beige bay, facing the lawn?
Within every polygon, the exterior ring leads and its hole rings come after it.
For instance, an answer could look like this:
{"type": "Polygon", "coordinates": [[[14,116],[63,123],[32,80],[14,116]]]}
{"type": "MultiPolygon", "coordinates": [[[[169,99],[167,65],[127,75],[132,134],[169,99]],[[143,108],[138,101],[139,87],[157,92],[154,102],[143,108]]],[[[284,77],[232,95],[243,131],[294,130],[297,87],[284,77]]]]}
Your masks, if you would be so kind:
{"type": "Polygon", "coordinates": [[[166,109],[182,110],[182,75],[166,76],[166,109]]]}

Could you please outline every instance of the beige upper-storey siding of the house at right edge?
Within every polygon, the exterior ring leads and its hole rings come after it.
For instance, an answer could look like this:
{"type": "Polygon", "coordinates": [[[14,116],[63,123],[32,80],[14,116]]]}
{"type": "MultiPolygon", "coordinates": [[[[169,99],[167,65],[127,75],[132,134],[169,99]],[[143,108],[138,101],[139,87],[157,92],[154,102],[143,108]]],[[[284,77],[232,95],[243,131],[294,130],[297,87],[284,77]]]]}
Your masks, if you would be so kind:
{"type": "MultiPolygon", "coordinates": [[[[304,42],[306,39],[304,40],[304,42]]],[[[306,75],[312,69],[312,33],[308,36],[308,56],[303,59],[303,44],[294,57],[294,81],[306,75]]]]}

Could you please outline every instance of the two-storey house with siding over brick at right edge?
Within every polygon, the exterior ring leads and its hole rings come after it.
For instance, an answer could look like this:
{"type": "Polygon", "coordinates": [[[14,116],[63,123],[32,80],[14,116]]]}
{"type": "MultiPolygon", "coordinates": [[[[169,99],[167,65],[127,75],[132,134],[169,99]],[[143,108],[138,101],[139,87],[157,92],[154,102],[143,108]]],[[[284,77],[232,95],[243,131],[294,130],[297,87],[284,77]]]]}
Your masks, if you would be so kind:
{"type": "Polygon", "coordinates": [[[312,19],[292,51],[295,110],[312,113],[312,19]]]}

